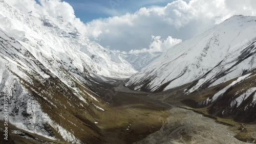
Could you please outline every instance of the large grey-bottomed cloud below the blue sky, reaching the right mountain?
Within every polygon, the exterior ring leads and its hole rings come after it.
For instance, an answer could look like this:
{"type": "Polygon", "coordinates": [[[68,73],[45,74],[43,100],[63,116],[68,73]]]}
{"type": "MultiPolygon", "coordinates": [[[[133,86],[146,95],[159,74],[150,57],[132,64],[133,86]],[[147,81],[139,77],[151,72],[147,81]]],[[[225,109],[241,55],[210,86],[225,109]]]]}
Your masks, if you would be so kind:
{"type": "Polygon", "coordinates": [[[178,0],[165,7],[141,8],[135,13],[93,20],[86,23],[86,35],[91,39],[100,39],[100,44],[110,45],[111,49],[139,50],[150,43],[151,35],[172,36],[186,40],[232,15],[255,15],[256,9],[253,9],[256,6],[255,2],[254,0],[191,0],[189,2],[178,0]],[[108,30],[108,33],[105,30],[108,30]]]}

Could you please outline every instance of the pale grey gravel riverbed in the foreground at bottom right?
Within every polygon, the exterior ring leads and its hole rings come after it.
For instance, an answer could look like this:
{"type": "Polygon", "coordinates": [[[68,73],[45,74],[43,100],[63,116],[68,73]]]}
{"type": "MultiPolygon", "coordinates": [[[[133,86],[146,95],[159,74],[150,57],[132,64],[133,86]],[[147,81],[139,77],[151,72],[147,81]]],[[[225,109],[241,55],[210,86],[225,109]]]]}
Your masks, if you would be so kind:
{"type": "Polygon", "coordinates": [[[215,119],[179,107],[169,112],[159,131],[136,143],[246,143],[234,138],[237,134],[215,119]]]}

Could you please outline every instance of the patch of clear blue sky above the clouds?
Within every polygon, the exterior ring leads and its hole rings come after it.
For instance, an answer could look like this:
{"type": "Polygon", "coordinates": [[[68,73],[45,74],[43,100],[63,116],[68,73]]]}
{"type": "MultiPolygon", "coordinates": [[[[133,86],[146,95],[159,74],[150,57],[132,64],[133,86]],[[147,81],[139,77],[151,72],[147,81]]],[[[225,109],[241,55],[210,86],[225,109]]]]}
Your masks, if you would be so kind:
{"type": "Polygon", "coordinates": [[[141,7],[166,6],[173,0],[65,0],[84,23],[93,19],[133,13],[141,7]]]}

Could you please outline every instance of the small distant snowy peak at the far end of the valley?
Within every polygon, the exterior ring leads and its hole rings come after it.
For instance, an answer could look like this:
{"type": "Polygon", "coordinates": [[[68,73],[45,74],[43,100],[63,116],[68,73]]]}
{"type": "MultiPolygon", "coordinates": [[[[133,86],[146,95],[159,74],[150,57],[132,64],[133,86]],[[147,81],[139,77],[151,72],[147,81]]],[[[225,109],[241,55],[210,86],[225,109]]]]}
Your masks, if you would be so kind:
{"type": "Polygon", "coordinates": [[[161,53],[121,54],[136,70],[140,70],[158,58],[161,53]]]}

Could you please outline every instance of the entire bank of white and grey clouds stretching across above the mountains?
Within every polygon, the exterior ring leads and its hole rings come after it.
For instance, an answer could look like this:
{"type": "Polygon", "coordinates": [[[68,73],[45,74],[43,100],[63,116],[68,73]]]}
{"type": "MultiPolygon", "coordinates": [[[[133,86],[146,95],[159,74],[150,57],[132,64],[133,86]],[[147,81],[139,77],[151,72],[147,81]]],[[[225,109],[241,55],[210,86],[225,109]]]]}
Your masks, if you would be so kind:
{"type": "Polygon", "coordinates": [[[130,53],[165,51],[172,43],[202,33],[232,15],[256,15],[255,0],[177,0],[165,7],[141,8],[134,13],[82,23],[73,8],[60,0],[39,0],[40,5],[34,0],[7,2],[24,12],[62,15],[91,40],[130,53]],[[153,40],[152,35],[156,35],[153,40]]]}

